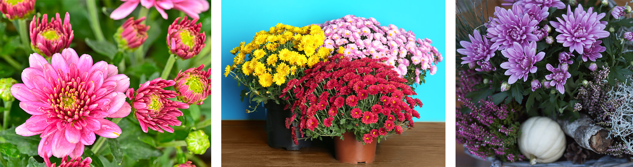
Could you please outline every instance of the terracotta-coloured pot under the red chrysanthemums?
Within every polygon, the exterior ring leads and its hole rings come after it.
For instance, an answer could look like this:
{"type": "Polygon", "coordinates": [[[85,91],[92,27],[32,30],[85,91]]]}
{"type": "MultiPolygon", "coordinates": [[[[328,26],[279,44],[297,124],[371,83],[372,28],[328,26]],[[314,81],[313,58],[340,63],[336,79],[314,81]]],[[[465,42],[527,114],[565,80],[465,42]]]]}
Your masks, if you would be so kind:
{"type": "Polygon", "coordinates": [[[334,154],[340,163],[373,163],[376,158],[376,139],[371,144],[363,145],[363,142],[356,140],[354,133],[343,133],[343,137],[345,140],[334,138],[334,154]]]}

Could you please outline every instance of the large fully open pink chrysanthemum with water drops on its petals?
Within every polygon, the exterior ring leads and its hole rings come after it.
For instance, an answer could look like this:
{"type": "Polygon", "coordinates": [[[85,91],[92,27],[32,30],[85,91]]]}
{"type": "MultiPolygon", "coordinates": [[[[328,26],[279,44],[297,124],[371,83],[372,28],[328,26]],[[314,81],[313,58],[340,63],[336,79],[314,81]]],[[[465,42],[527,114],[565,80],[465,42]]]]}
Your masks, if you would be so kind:
{"type": "Polygon", "coordinates": [[[105,61],[92,64],[92,57],[77,56],[64,49],[53,54],[52,63],[37,53],[31,54],[29,68],[22,71],[24,84],[11,87],[20,108],[32,114],[15,128],[18,135],[41,134],[37,152],[42,158],[76,158],[84,145],[92,145],[95,135],[116,138],[122,131],[105,118],[123,118],[130,113],[125,91],[130,78],[118,74],[105,61]]]}

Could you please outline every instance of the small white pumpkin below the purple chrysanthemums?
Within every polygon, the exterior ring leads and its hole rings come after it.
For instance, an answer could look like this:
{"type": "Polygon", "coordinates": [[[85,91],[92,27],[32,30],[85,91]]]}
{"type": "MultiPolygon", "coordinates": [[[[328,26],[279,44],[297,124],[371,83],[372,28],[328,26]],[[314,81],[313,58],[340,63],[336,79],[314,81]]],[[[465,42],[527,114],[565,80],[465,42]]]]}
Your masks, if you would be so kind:
{"type": "Polygon", "coordinates": [[[565,152],[566,142],[565,133],[556,121],[534,116],[521,125],[518,147],[530,159],[530,164],[534,165],[558,160],[565,152]]]}

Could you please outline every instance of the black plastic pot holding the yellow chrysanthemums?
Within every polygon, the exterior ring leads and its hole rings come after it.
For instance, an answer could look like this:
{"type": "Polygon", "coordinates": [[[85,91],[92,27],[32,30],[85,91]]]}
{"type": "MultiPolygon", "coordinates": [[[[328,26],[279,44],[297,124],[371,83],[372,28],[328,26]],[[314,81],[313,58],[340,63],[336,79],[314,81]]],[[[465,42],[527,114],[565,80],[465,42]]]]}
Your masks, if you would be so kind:
{"type": "MultiPolygon", "coordinates": [[[[266,133],[268,134],[268,146],[273,149],[284,148],[286,150],[299,150],[302,147],[310,147],[311,140],[298,140],[299,145],[292,141],[291,129],[285,128],[285,118],[292,115],[289,109],[284,110],[285,104],[268,102],[266,107],[266,133]]],[[[301,137],[301,132],[296,130],[297,137],[301,137]]]]}

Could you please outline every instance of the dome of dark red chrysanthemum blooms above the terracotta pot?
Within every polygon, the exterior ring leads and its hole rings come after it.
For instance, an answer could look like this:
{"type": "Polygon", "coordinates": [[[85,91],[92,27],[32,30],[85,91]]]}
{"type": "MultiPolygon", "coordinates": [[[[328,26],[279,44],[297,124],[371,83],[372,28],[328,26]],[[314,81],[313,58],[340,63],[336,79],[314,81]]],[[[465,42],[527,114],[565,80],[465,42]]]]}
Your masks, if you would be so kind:
{"type": "MultiPolygon", "coordinates": [[[[340,56],[335,56],[340,57],[340,56]]],[[[305,70],[304,77],[290,80],[280,97],[296,99],[288,122],[296,122],[301,138],[354,133],[364,144],[413,128],[422,107],[407,80],[385,65],[384,59],[347,58],[321,61],[305,70]]],[[[297,141],[294,137],[295,143],[297,141]]]]}

